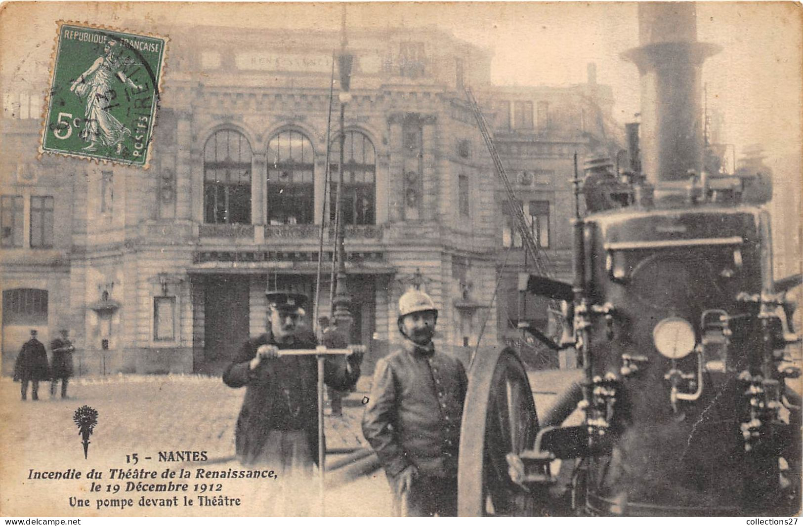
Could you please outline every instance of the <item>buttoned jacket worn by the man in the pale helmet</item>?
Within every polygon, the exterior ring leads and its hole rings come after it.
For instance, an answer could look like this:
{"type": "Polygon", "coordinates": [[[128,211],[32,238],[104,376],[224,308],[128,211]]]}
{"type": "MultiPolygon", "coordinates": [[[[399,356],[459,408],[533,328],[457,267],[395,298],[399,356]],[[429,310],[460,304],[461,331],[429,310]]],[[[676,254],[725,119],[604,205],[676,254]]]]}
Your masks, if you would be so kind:
{"type": "Polygon", "coordinates": [[[377,362],[362,421],[388,475],[410,464],[424,475],[457,476],[468,379],[454,357],[406,342],[377,362]]]}

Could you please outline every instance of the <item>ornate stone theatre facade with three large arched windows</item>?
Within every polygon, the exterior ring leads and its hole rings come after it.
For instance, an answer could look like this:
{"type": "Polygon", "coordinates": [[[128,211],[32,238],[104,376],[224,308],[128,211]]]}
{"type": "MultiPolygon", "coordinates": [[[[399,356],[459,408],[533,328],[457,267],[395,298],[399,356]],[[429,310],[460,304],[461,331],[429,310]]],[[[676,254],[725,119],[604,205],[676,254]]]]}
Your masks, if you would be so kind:
{"type": "MultiPolygon", "coordinates": [[[[266,289],[320,291],[306,323],[330,312],[339,35],[210,27],[171,38],[147,170],[38,160],[35,87],[47,85],[47,56],[19,65],[24,80],[3,79],[4,373],[31,328],[46,344],[69,329],[76,373],[219,373],[265,330],[266,289]]],[[[495,297],[501,255],[520,247],[463,87],[475,87],[510,144],[506,162],[532,190],[528,213],[556,254],[569,248],[570,160],[595,133],[581,120],[599,106],[550,92],[562,102],[552,103],[554,126],[540,128],[550,110],[521,104],[537,90],[494,88],[487,51],[434,30],[349,31],[349,49],[342,206],[353,343],[369,345],[369,362],[386,353],[401,338],[399,296],[420,287],[440,312],[438,345],[496,345],[512,326],[497,305],[517,294],[506,281],[495,297]],[[563,124],[561,104],[572,115],[563,124]]]]}

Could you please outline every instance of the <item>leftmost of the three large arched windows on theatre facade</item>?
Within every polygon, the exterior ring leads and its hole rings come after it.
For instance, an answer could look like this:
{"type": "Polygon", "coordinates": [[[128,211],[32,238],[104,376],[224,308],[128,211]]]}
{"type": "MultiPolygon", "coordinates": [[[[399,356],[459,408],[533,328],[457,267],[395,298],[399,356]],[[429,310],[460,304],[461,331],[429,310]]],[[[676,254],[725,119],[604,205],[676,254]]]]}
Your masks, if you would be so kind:
{"type": "Polygon", "coordinates": [[[204,221],[251,223],[251,145],[237,131],[222,129],[203,152],[204,221]]]}

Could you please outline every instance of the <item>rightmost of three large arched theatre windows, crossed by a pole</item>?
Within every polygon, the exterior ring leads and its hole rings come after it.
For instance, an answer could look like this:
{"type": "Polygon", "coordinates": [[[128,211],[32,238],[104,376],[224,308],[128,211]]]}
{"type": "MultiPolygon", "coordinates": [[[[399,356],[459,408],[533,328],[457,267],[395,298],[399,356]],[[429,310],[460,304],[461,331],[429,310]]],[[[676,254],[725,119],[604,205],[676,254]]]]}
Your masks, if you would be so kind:
{"type": "MultiPolygon", "coordinates": [[[[331,158],[340,160],[340,137],[332,142],[331,158]]],[[[335,220],[337,203],[337,162],[331,164],[332,188],[329,218],[335,220]]],[[[373,225],[376,222],[377,155],[365,133],[346,132],[343,174],[343,222],[346,225],[373,225]]]]}

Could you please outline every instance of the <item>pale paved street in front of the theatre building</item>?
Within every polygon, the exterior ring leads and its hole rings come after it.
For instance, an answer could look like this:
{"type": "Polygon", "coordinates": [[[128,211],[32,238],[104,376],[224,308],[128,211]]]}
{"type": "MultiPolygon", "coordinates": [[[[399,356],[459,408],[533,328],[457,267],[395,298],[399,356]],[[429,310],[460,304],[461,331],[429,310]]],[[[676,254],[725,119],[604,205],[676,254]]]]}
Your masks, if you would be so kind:
{"type": "MultiPolygon", "coordinates": [[[[539,412],[555,393],[569,384],[577,372],[533,373],[536,406],[539,412]]],[[[231,389],[219,377],[205,376],[137,376],[75,378],[70,382],[70,398],[51,399],[49,383],[39,386],[38,402],[22,402],[19,383],[0,379],[0,419],[4,459],[0,463],[0,512],[4,516],[59,515],[148,515],[195,516],[255,515],[266,512],[253,487],[241,481],[224,480],[223,494],[243,495],[250,500],[239,508],[132,508],[123,511],[101,508],[96,510],[96,495],[92,507],[70,508],[70,496],[88,497],[90,481],[54,481],[28,479],[30,470],[65,471],[74,468],[84,474],[95,467],[129,467],[156,470],[204,467],[210,470],[241,469],[234,459],[234,424],[243,401],[245,389],[231,389]],[[88,458],[73,414],[80,406],[98,411],[98,422],[90,437],[88,458]],[[159,461],[160,451],[206,451],[204,463],[165,463],[159,461]],[[9,454],[11,453],[11,454],[9,454]],[[137,454],[137,463],[133,456],[137,454]],[[150,457],[150,459],[148,459],[150,457]],[[247,495],[247,496],[246,496],[247,495]],[[33,497],[33,499],[31,499],[33,497]]],[[[367,446],[361,434],[362,400],[369,395],[370,378],[363,377],[357,390],[344,400],[344,415],[324,418],[328,449],[360,450],[367,446]]],[[[58,395],[57,395],[58,396],[58,395]]],[[[328,410],[327,410],[328,413],[328,410]]],[[[348,459],[344,453],[328,456],[328,465],[348,459]]],[[[366,457],[340,467],[328,474],[325,513],[329,516],[389,516],[390,494],[385,475],[377,463],[366,457]]],[[[114,481],[104,477],[102,483],[114,481]]],[[[135,480],[135,482],[137,482],[135,480]]],[[[196,482],[196,479],[192,480],[196,482]]],[[[218,482],[218,481],[215,481],[218,482]]],[[[270,483],[268,483],[270,484],[270,483]]],[[[270,491],[269,486],[262,486],[270,491]]],[[[317,503],[315,483],[309,488],[312,504],[317,503]],[[313,498],[314,497],[314,498],[313,498]]],[[[104,497],[119,497],[103,495],[104,497]]],[[[135,493],[132,495],[141,495],[135,493]]],[[[214,495],[218,495],[216,492],[214,495]]],[[[161,495],[150,495],[161,496],[161,495]]],[[[312,506],[315,515],[320,508],[312,506]]]]}

